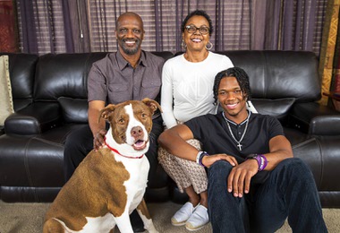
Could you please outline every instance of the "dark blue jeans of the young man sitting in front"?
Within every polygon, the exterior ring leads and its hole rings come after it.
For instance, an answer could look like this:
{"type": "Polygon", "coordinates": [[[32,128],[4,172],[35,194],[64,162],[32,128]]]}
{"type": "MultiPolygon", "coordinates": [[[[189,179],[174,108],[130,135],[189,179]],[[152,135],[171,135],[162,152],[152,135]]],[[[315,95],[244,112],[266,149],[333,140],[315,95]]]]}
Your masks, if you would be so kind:
{"type": "Polygon", "coordinates": [[[242,198],[227,192],[232,168],[219,160],[208,169],[208,214],[214,232],[272,233],[287,217],[294,233],[327,232],[314,178],[302,160],[283,160],[242,198]]]}

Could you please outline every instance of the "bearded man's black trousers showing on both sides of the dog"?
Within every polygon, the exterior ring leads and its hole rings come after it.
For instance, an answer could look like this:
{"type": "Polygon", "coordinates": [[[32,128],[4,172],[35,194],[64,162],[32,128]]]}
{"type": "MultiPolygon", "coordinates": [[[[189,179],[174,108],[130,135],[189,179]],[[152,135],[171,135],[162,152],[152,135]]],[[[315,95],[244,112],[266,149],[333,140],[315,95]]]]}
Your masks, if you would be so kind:
{"type": "MultiPolygon", "coordinates": [[[[149,134],[150,146],[146,156],[149,160],[149,180],[154,177],[157,170],[157,138],[164,130],[163,119],[161,116],[152,120],[152,130],[149,134]]],[[[73,131],[66,138],[64,144],[64,177],[67,182],[78,165],[93,149],[93,135],[89,125],[84,125],[78,130],[73,131]]]]}

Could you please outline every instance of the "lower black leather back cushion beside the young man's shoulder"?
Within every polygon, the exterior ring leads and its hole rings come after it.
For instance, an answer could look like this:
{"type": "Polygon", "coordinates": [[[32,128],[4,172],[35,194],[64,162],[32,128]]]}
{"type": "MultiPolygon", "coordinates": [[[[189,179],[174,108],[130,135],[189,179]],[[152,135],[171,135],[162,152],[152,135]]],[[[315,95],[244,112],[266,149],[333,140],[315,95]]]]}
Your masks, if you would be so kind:
{"type": "Polygon", "coordinates": [[[276,116],[280,121],[285,119],[294,101],[294,98],[251,99],[252,104],[260,114],[276,116]]]}

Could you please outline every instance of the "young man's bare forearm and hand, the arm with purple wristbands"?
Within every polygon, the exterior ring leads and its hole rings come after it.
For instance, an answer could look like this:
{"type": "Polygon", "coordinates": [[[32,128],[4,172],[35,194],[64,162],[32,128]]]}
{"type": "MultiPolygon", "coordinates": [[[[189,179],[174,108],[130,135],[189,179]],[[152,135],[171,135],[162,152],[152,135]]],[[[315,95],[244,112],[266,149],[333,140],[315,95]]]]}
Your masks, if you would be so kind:
{"type": "MultiPolygon", "coordinates": [[[[268,160],[268,165],[264,170],[272,170],[282,160],[293,157],[291,143],[282,135],[273,137],[269,141],[269,151],[269,153],[264,154],[268,160]]],[[[258,170],[258,161],[253,159],[245,160],[240,165],[234,167],[227,181],[228,192],[234,192],[235,197],[242,197],[243,191],[245,194],[248,194],[251,188],[251,177],[255,176],[258,170]]]]}

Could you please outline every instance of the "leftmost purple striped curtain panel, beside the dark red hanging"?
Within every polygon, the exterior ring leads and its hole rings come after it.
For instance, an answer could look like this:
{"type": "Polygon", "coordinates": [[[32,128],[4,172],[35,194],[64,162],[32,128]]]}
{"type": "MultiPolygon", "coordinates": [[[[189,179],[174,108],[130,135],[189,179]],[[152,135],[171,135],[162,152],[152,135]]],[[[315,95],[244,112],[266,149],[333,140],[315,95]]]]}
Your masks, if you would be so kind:
{"type": "Polygon", "coordinates": [[[74,52],[67,0],[18,0],[21,52],[31,54],[74,52]]]}

